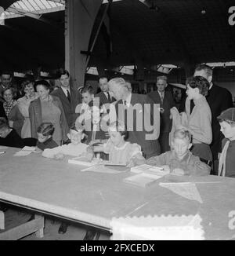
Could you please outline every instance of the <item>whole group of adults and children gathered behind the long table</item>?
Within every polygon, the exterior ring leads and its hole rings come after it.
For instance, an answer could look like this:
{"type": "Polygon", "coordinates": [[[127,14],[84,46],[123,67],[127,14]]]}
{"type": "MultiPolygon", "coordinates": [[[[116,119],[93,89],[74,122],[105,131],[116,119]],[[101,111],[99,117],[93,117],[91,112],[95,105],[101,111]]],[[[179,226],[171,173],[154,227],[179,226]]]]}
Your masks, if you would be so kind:
{"type": "MultiPolygon", "coordinates": [[[[89,85],[73,88],[64,69],[58,79],[60,88],[52,92],[45,80],[25,79],[17,101],[10,81],[1,79],[0,144],[22,148],[34,139],[35,151],[52,159],[83,155],[92,161],[99,152],[128,167],[147,163],[175,175],[209,175],[212,166],[211,174],[235,177],[235,108],[207,65],[198,65],[186,80],[179,109],[165,76],[157,77],[157,90],[149,94],[132,93],[122,78],[100,77],[96,94],[89,85]]],[[[60,233],[66,230],[62,223],[60,233]]],[[[97,234],[88,229],[85,240],[97,234]]]]}

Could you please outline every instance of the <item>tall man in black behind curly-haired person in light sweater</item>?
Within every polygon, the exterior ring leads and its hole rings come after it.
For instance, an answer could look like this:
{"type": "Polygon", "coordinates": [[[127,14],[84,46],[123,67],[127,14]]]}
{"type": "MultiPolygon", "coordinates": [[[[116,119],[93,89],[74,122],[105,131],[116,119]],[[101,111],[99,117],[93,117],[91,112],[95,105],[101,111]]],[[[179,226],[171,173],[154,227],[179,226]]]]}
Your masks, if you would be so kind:
{"type": "Polygon", "coordinates": [[[227,108],[233,108],[233,98],[232,94],[226,88],[217,86],[212,82],[213,71],[212,68],[206,64],[199,64],[195,68],[194,76],[201,75],[205,79],[208,79],[210,83],[210,88],[208,91],[207,101],[211,108],[212,114],[212,143],[211,152],[213,155],[213,172],[211,174],[217,174],[218,172],[218,153],[221,152],[221,142],[223,135],[220,132],[219,121],[217,116],[221,114],[222,111],[227,108]]]}

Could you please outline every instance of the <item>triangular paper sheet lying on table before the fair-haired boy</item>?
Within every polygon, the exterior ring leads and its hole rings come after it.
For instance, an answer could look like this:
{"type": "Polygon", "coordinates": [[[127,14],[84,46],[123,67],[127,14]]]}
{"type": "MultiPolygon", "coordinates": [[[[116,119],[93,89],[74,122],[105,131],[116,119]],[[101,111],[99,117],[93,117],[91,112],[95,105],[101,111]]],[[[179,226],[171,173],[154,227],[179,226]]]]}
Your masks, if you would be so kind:
{"type": "Polygon", "coordinates": [[[172,192],[175,192],[175,194],[183,196],[186,199],[203,203],[197,186],[192,182],[159,183],[159,185],[170,189],[172,192]]]}

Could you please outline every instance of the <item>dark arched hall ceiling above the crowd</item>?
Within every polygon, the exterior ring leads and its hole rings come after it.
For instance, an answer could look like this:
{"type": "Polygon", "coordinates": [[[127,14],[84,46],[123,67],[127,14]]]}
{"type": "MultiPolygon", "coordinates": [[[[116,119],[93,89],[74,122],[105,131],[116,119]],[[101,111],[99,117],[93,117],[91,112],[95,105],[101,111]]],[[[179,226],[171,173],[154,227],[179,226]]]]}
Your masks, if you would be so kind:
{"type": "MultiPolygon", "coordinates": [[[[13,2],[2,0],[1,5],[6,8],[13,2]]],[[[234,61],[235,26],[228,22],[231,15],[228,10],[233,5],[233,0],[113,2],[110,7],[113,51],[108,52],[107,35],[101,30],[89,65],[102,62],[110,67],[124,64],[147,67],[234,61]]],[[[93,37],[104,7],[101,6],[97,16],[93,37]]],[[[64,12],[46,13],[43,17],[51,20],[51,25],[24,17],[5,20],[5,26],[0,26],[0,69],[63,65],[64,12]]]]}

